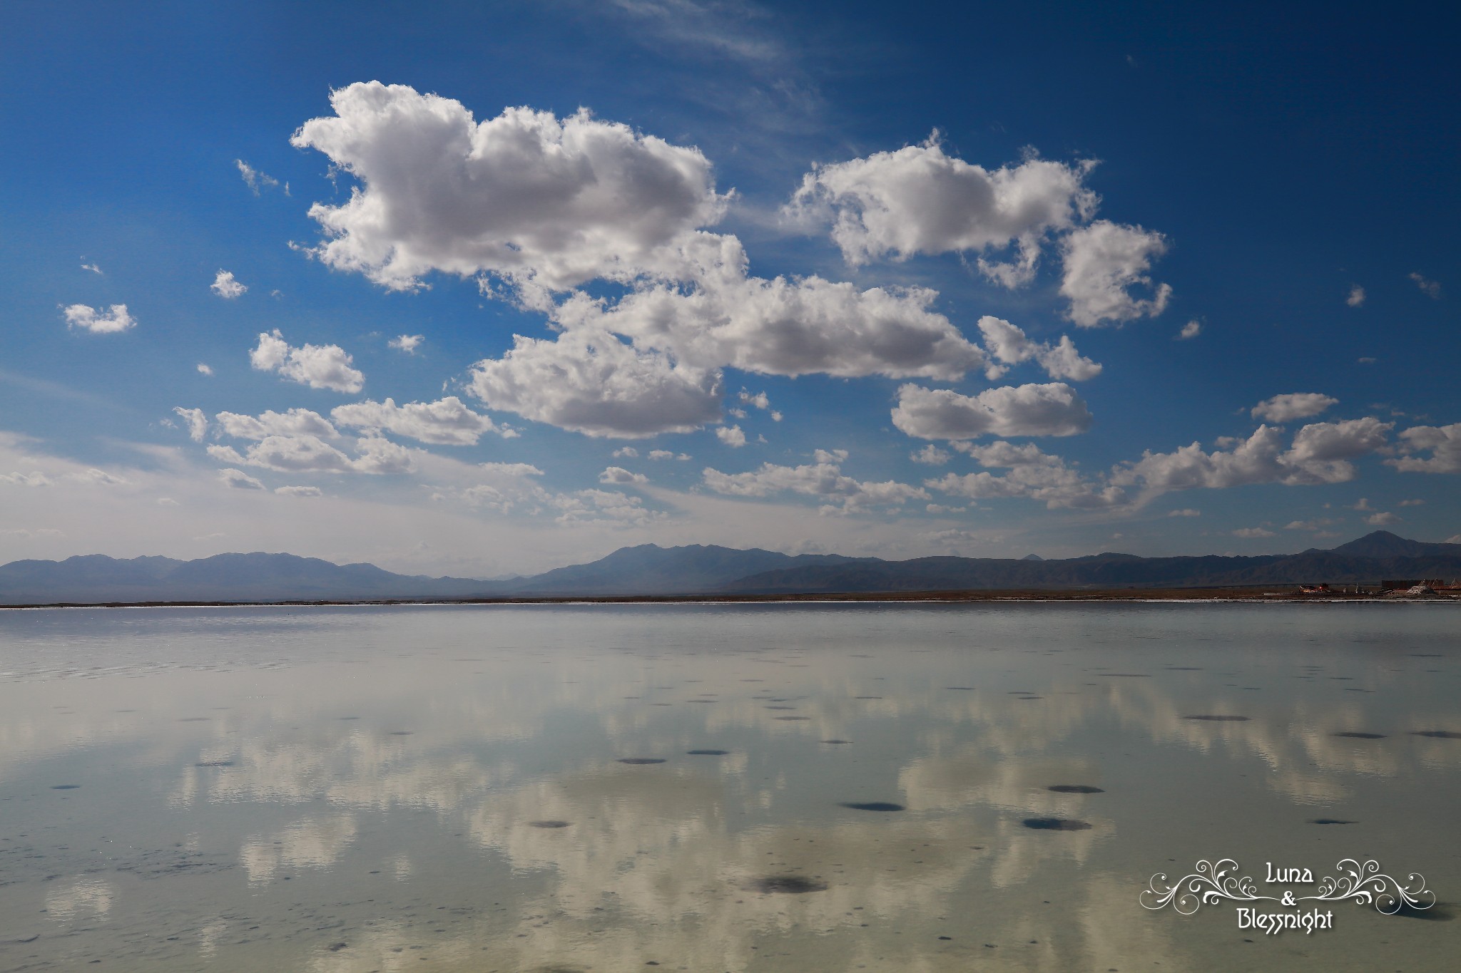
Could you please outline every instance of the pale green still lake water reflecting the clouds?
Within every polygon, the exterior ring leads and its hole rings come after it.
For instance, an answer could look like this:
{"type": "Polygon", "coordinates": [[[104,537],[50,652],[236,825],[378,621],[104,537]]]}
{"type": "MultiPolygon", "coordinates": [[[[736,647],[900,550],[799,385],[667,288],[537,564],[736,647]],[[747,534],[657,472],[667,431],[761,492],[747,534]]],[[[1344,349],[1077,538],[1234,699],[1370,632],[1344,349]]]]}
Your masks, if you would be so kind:
{"type": "Polygon", "coordinates": [[[1451,969],[1458,658],[1448,605],[4,611],[0,970],[1451,969]],[[1217,858],[1441,904],[1138,904],[1217,858]]]}

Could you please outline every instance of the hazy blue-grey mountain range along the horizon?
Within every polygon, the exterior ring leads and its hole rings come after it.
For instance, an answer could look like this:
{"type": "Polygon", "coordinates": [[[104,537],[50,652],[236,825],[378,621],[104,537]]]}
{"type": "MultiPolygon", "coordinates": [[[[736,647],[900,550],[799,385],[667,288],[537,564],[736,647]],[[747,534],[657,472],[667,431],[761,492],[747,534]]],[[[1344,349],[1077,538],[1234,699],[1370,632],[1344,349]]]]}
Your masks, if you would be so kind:
{"type": "Polygon", "coordinates": [[[1461,544],[1375,531],[1332,550],[1256,557],[843,557],[691,544],[622,547],[587,565],[507,581],[396,575],[294,554],[199,560],[85,554],[0,566],[0,604],[375,601],[532,597],[787,595],[979,589],[1375,585],[1461,578],[1461,544]]]}

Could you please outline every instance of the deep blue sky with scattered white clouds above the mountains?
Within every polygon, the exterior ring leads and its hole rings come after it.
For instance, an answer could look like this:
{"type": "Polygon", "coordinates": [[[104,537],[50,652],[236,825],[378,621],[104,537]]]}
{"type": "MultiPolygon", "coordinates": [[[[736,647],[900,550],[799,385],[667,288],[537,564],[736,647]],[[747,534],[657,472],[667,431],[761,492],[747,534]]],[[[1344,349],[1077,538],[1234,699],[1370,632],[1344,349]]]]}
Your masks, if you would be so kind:
{"type": "Polygon", "coordinates": [[[0,562],[1461,543],[1435,4],[6,4],[0,562]]]}

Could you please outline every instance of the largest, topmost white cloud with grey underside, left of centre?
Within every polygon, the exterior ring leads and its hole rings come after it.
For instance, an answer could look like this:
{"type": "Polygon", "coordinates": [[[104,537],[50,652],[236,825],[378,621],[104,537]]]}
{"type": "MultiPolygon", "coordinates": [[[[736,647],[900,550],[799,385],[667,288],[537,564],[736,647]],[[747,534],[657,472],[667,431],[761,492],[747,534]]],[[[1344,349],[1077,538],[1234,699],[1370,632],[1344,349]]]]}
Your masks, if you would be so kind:
{"type": "Polygon", "coordinates": [[[719,219],[710,162],[586,109],[508,108],[478,123],[460,102],[405,85],[330,93],[335,117],[291,143],[323,152],[364,185],[316,203],[316,255],[390,289],[432,270],[492,273],[561,290],[657,265],[660,248],[719,219]]]}

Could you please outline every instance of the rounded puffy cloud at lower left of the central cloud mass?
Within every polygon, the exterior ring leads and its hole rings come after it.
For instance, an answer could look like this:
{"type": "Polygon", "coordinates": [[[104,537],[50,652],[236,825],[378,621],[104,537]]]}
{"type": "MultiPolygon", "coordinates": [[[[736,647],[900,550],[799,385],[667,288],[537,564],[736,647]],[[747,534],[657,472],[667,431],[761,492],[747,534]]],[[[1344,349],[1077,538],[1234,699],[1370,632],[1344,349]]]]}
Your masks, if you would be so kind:
{"type": "Polygon", "coordinates": [[[489,408],[589,436],[641,439],[720,417],[717,372],[592,330],[552,341],[516,336],[501,359],[472,368],[472,392],[489,408]]]}

